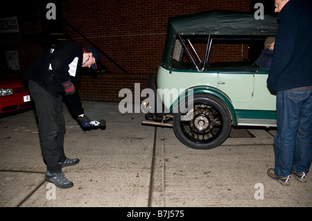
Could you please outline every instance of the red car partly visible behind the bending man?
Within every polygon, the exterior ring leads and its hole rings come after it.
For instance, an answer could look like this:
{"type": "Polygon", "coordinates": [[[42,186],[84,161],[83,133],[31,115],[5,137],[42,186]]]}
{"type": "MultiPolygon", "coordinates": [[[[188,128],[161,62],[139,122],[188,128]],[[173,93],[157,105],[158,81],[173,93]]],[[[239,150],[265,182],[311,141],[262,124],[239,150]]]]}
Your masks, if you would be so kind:
{"type": "Polygon", "coordinates": [[[0,73],[0,118],[27,111],[32,106],[23,76],[0,73]]]}

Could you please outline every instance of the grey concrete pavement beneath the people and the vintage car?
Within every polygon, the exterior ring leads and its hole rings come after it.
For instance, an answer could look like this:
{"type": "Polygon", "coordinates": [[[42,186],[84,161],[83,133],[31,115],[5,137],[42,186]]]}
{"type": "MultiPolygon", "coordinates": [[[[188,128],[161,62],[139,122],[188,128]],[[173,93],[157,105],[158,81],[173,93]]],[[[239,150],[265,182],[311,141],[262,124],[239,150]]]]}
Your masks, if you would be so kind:
{"type": "Polygon", "coordinates": [[[144,114],[121,114],[118,103],[85,101],[105,130],[83,131],[64,105],[64,168],[70,189],[44,180],[35,112],[0,119],[0,206],[208,207],[312,206],[312,176],[284,187],[266,175],[274,166],[275,130],[234,128],[223,145],[193,150],[172,128],[141,125],[144,114]]]}

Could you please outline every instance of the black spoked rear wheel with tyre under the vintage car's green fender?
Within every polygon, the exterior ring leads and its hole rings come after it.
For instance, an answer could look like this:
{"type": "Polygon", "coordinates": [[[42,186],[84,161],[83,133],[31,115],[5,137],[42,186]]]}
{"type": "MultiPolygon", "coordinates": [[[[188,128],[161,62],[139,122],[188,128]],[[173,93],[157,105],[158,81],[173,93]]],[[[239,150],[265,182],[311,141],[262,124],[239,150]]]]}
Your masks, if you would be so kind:
{"type": "Polygon", "coordinates": [[[225,103],[209,94],[193,96],[193,108],[173,114],[173,130],[189,148],[208,150],[222,144],[231,131],[231,116],[225,103]]]}

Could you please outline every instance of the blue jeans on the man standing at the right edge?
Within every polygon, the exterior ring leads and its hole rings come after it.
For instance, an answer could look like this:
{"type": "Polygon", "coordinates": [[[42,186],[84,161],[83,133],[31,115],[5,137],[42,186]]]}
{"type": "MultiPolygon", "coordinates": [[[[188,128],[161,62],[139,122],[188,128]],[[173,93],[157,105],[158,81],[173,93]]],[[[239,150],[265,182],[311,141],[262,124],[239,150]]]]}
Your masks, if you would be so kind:
{"type": "Polygon", "coordinates": [[[308,172],[311,164],[312,90],[277,91],[275,175],[308,172]]]}

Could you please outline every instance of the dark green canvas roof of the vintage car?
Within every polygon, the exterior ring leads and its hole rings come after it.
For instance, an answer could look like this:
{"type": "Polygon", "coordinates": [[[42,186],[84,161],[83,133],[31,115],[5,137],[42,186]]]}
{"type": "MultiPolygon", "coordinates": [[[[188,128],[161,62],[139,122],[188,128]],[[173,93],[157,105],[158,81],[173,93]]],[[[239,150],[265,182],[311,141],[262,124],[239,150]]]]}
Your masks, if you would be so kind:
{"type": "Polygon", "coordinates": [[[254,13],[210,10],[180,17],[169,17],[168,28],[179,35],[275,35],[278,23],[275,15],[255,19],[254,13]]]}

